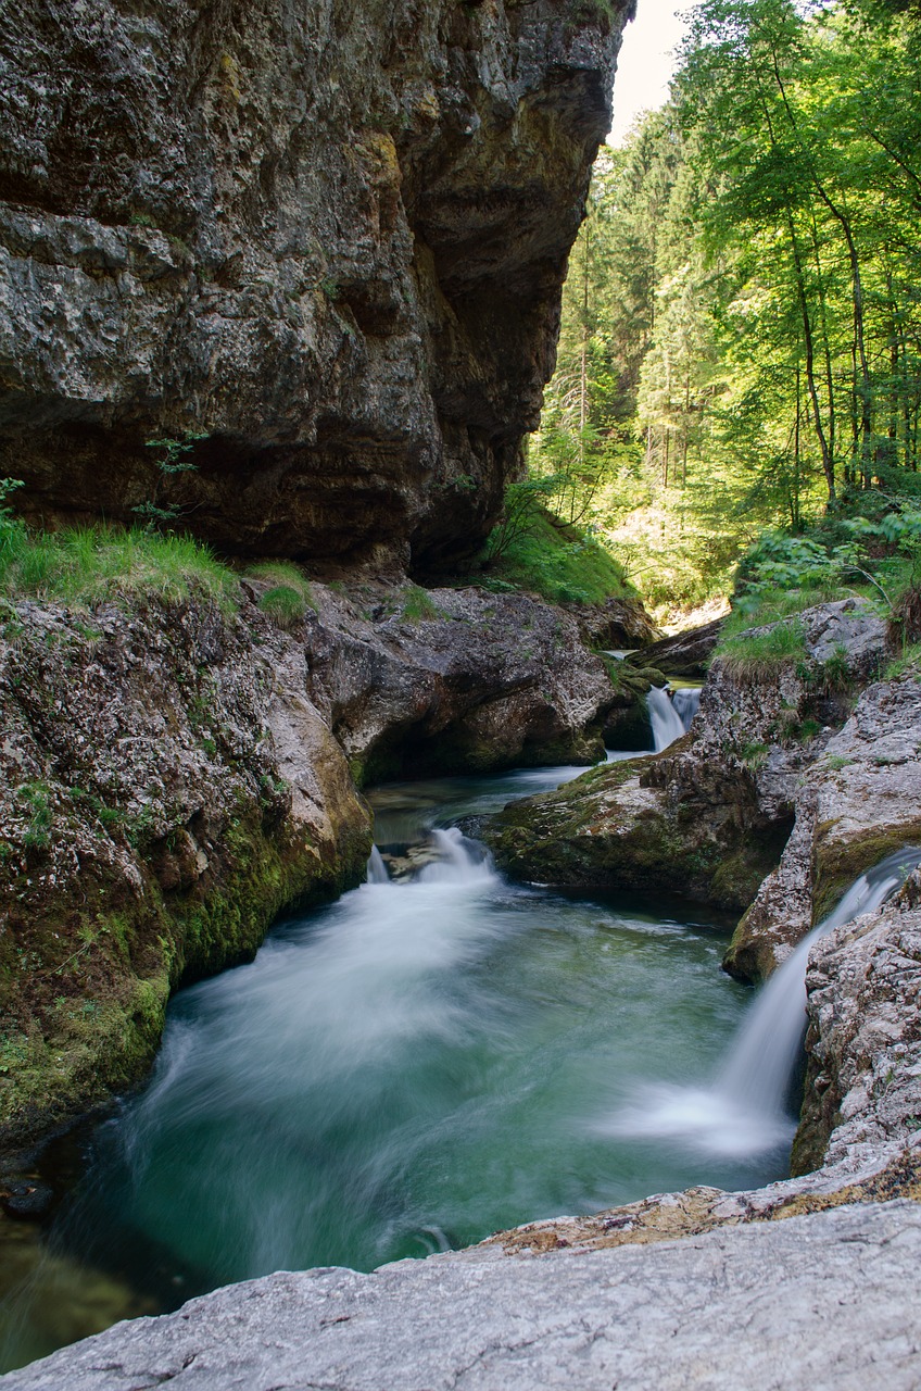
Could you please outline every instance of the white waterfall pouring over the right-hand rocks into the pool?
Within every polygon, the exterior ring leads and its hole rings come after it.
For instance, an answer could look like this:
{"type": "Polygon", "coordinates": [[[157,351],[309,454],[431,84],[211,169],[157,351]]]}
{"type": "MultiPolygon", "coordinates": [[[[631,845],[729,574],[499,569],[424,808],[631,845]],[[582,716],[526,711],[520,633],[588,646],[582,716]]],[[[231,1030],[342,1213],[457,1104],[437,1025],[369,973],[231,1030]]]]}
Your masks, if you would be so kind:
{"type": "Polygon", "coordinates": [[[754,1155],[790,1139],[796,1128],[786,1100],[806,1028],[806,971],[812,944],[825,933],[874,912],[921,862],[906,847],[851,885],[838,907],[778,967],[760,992],[710,1088],[658,1085],[607,1127],[625,1136],[684,1138],[693,1149],[754,1155]]]}

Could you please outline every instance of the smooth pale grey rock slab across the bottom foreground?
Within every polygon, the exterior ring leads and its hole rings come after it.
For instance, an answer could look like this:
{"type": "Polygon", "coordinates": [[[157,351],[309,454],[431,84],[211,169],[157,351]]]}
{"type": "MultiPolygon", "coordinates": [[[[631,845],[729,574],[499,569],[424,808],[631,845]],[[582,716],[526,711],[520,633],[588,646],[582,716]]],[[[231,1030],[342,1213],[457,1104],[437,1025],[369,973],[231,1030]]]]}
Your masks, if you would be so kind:
{"type": "Polygon", "coordinates": [[[474,1248],[275,1274],[120,1324],[4,1391],[910,1391],[921,1207],[892,1202],[637,1249],[474,1248]]]}

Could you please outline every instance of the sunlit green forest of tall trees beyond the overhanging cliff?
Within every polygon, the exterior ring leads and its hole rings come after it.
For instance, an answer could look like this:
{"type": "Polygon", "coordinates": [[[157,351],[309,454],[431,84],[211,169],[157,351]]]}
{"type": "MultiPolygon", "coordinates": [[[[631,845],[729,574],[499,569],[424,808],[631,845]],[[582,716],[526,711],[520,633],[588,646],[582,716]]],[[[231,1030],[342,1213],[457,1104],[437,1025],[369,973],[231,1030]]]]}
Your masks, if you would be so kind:
{"type": "Polygon", "coordinates": [[[587,530],[659,616],[760,537],[774,579],[913,549],[920,89],[904,0],[693,10],[669,102],[595,166],[512,513],[587,530]]]}

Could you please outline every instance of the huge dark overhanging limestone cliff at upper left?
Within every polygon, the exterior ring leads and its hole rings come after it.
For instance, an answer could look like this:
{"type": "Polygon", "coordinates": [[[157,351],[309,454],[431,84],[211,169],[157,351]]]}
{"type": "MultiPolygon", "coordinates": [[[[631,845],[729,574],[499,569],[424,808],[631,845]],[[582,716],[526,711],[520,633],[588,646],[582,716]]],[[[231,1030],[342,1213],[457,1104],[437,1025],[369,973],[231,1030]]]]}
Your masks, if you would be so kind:
{"type": "Polygon", "coordinates": [[[0,476],[227,549],[476,547],[627,0],[0,3],[0,476]],[[167,484],[145,441],[200,434],[167,484]]]}

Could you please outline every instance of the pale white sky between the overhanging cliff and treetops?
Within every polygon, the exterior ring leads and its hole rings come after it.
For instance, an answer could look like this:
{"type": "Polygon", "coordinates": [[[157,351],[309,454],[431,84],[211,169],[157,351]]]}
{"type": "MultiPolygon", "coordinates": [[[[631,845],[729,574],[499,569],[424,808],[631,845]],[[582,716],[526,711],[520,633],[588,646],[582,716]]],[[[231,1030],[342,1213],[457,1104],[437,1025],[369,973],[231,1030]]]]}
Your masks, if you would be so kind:
{"type": "Polygon", "coordinates": [[[636,19],[623,31],[609,145],[623,140],[640,111],[652,111],[665,102],[675,70],[673,50],[683,32],[676,11],[689,6],[690,0],[639,0],[636,19]]]}

